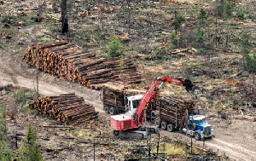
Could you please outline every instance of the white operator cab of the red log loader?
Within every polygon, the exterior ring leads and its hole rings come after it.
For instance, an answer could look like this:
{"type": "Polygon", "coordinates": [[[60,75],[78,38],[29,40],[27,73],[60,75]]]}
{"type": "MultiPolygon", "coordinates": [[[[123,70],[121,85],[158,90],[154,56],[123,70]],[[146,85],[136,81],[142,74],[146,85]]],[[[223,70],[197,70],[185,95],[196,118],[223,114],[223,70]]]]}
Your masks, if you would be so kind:
{"type": "Polygon", "coordinates": [[[143,95],[132,95],[127,97],[126,112],[133,115],[142,100],[143,95]]]}

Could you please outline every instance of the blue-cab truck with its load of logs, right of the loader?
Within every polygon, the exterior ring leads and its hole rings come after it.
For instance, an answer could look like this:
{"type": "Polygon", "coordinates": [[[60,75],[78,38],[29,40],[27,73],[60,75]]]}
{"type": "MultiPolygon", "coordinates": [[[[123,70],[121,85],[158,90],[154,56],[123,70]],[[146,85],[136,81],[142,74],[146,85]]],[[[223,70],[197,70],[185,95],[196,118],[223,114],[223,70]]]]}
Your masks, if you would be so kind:
{"type": "Polygon", "coordinates": [[[213,129],[205,118],[195,112],[194,101],[165,96],[160,98],[159,117],[155,119],[155,124],[168,131],[179,129],[180,132],[195,136],[198,141],[213,136],[213,129]]]}

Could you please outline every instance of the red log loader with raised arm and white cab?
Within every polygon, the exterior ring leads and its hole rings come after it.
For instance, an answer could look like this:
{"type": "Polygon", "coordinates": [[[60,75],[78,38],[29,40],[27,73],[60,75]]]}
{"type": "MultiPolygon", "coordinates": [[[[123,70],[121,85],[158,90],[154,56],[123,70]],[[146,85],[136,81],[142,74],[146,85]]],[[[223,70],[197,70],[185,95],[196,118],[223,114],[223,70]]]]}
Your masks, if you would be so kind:
{"type": "Polygon", "coordinates": [[[168,76],[156,78],[144,95],[133,95],[127,98],[128,112],[111,116],[110,124],[114,129],[113,134],[115,136],[125,138],[147,138],[149,133],[158,133],[158,128],[156,126],[143,126],[145,109],[148,102],[159,93],[160,87],[166,82],[183,84],[188,92],[193,92],[196,87],[189,79],[171,78],[168,76]]]}

